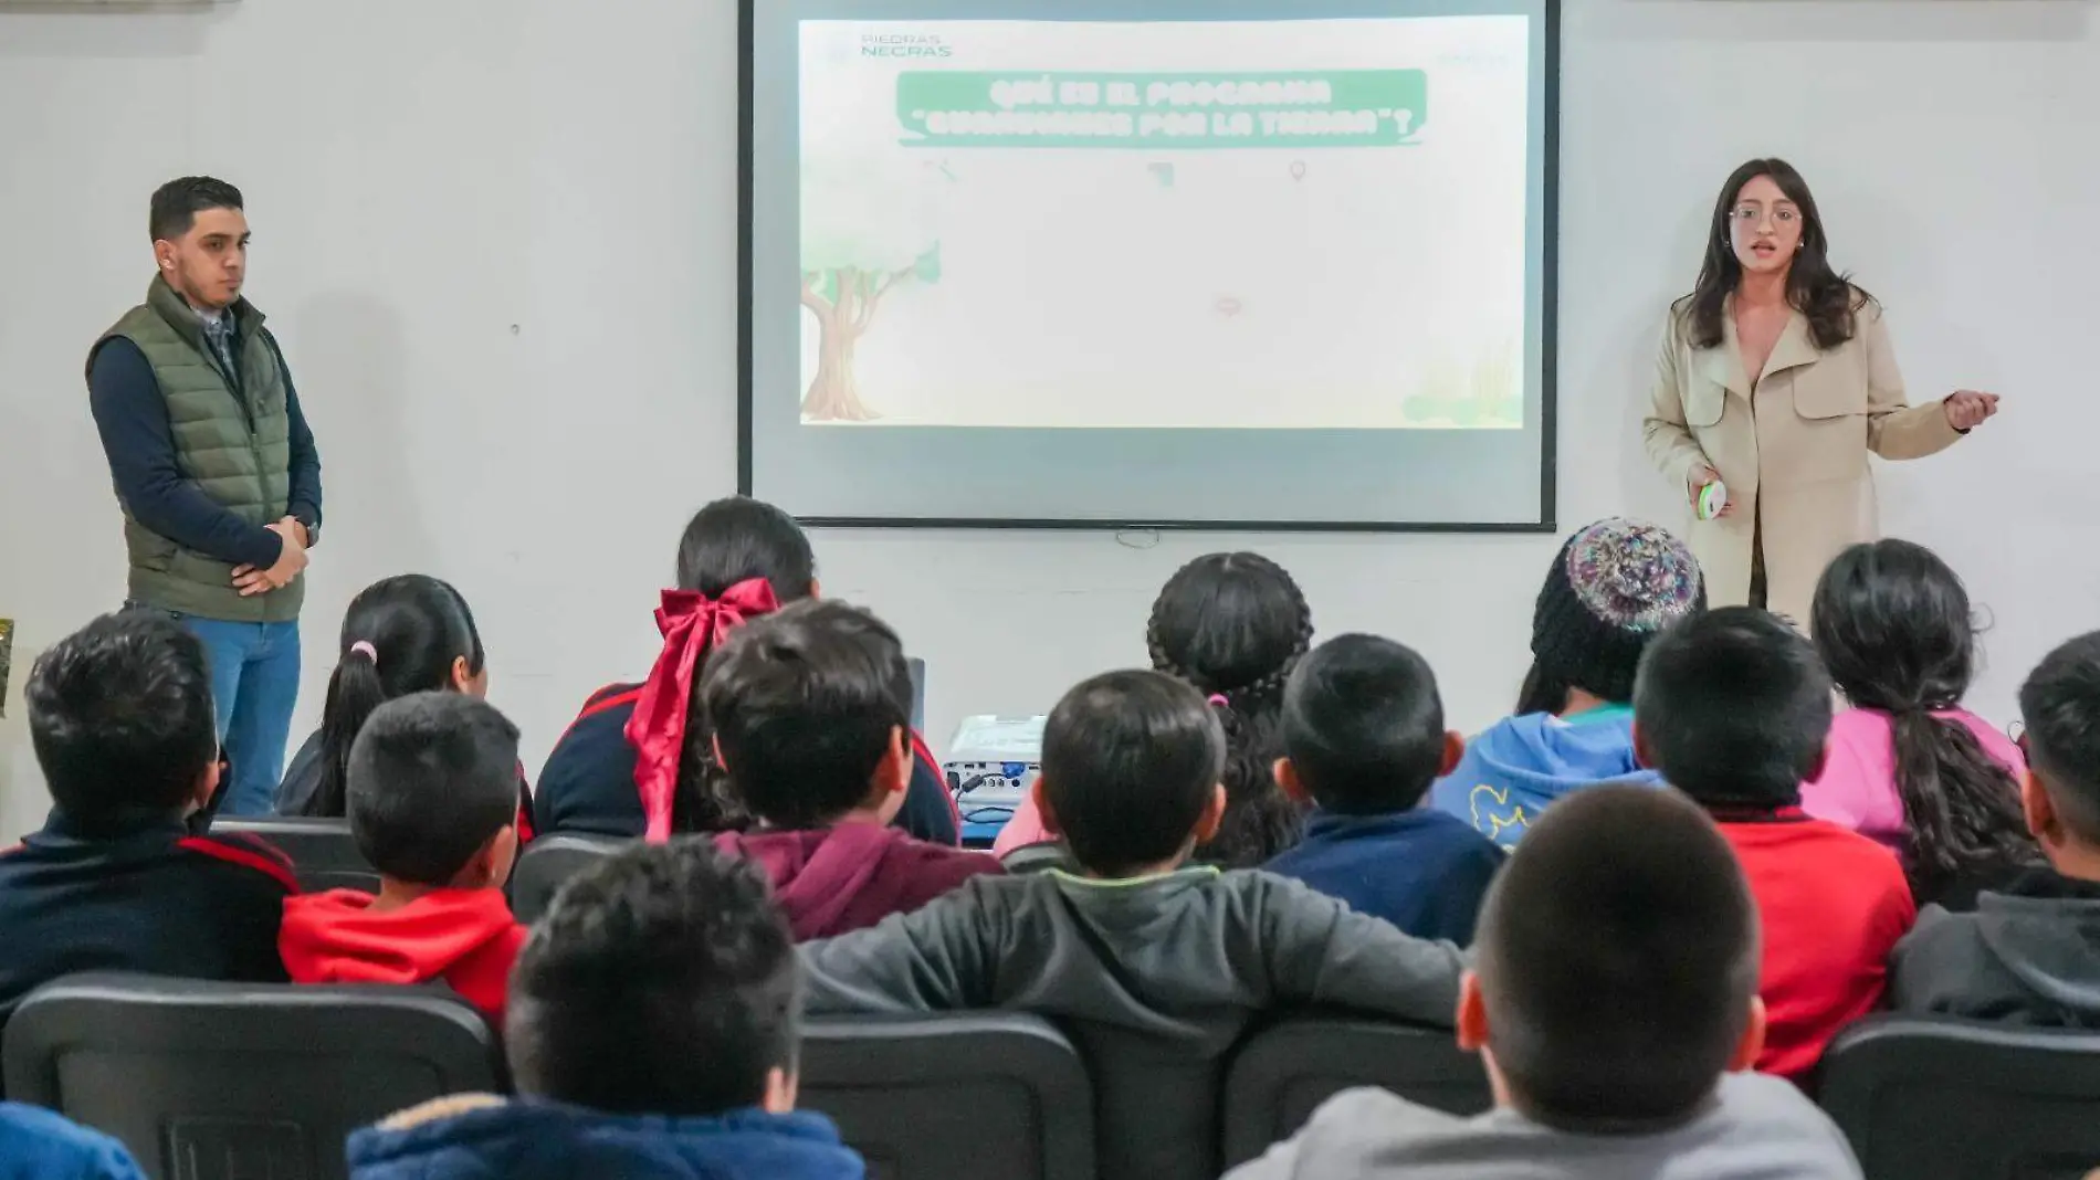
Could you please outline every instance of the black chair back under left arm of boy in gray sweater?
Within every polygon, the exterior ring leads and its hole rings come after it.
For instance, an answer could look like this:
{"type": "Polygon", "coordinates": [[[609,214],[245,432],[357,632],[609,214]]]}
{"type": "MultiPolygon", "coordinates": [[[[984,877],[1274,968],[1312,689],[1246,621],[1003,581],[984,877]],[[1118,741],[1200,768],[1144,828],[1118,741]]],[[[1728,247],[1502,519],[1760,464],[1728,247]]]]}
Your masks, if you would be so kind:
{"type": "Polygon", "coordinates": [[[798,1104],[838,1121],[874,1180],[1092,1180],[1086,1067],[1014,1012],[815,1018],[798,1104]]]}

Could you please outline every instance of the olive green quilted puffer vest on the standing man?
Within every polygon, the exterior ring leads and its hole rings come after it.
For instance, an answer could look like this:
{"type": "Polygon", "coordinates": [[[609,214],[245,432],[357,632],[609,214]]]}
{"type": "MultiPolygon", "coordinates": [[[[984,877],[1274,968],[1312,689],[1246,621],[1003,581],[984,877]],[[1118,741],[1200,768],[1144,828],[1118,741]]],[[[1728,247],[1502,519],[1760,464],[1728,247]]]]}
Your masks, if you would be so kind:
{"type": "MultiPolygon", "coordinates": [[[[124,338],[153,365],[174,428],[174,464],[185,479],[250,525],[281,521],[292,496],[292,422],[284,405],[284,367],[262,334],[262,313],[246,298],[233,304],[233,355],[239,380],[227,380],[204,342],[204,321],[160,279],[145,302],[124,313],[101,340],[124,338]]],[[[94,367],[94,351],[88,367],[94,367]]],[[[147,529],[132,519],[122,491],[124,548],[130,554],[130,600],[200,619],[284,624],[298,617],[307,580],[242,598],[233,567],[147,529]]]]}

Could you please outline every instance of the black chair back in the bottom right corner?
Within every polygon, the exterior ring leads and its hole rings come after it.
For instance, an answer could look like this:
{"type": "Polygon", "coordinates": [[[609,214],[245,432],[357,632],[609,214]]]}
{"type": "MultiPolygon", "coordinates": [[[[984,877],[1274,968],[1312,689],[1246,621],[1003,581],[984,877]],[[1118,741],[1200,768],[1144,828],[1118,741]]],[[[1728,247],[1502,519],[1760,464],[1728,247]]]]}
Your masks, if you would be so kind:
{"type": "Polygon", "coordinates": [[[1838,1035],[1819,1079],[1867,1180],[2100,1167],[2100,1033],[1877,1016],[1838,1035]]]}

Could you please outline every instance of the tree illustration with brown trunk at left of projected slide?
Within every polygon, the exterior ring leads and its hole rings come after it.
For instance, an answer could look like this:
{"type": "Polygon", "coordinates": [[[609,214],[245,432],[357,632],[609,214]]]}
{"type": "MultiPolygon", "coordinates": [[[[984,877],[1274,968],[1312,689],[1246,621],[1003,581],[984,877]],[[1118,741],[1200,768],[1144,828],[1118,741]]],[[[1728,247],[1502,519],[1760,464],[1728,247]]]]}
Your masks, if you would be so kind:
{"type": "Polygon", "coordinates": [[[808,422],[867,422],[853,349],[884,296],[941,281],[926,181],[880,168],[802,172],[802,307],[817,321],[817,376],[802,395],[808,422]]]}

